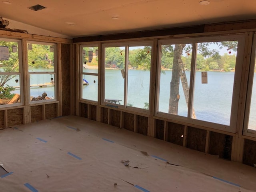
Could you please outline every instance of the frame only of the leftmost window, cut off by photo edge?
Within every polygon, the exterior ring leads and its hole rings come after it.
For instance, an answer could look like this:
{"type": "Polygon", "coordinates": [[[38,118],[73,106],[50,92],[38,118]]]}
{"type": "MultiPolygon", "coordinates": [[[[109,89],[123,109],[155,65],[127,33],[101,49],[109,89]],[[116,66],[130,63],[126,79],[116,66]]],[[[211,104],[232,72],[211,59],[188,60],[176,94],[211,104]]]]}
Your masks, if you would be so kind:
{"type": "Polygon", "coordinates": [[[17,42],[18,43],[18,61],[19,61],[19,72],[0,72],[0,75],[19,75],[20,76],[20,103],[4,104],[0,105],[0,108],[9,108],[14,106],[24,105],[24,84],[23,84],[23,60],[22,60],[22,40],[20,39],[9,39],[0,38],[0,41],[17,42]]]}

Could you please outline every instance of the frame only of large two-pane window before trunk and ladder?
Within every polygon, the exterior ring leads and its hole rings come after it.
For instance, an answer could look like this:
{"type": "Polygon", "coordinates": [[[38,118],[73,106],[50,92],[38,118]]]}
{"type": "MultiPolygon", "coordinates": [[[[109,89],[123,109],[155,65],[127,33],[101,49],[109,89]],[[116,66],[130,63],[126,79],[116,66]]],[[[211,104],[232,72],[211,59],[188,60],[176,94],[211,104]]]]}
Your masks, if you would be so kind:
{"type": "MultiPolygon", "coordinates": [[[[243,65],[243,55],[244,55],[244,45],[245,45],[246,34],[236,34],[236,35],[223,35],[223,36],[204,36],[195,38],[180,38],[180,39],[166,39],[158,41],[158,58],[157,58],[157,74],[156,74],[156,100],[155,100],[155,110],[154,116],[172,119],[176,122],[183,122],[185,124],[193,124],[202,127],[209,127],[214,130],[222,130],[226,132],[236,132],[236,121],[238,116],[238,102],[240,94],[240,83],[242,78],[242,65],[243,65]],[[196,45],[201,42],[220,42],[220,41],[238,41],[238,49],[236,55],[236,70],[234,74],[233,91],[232,91],[232,103],[230,111],[230,125],[218,124],[214,122],[206,122],[203,120],[197,120],[191,118],[193,101],[194,101],[194,86],[195,86],[195,76],[196,76],[196,45]],[[189,98],[188,98],[188,115],[178,116],[174,114],[168,114],[158,111],[159,104],[159,92],[160,92],[160,67],[161,67],[161,46],[163,44],[192,44],[192,60],[191,60],[191,71],[190,71],[190,84],[189,84],[189,98]]],[[[179,91],[180,93],[182,90],[179,91]]],[[[182,93],[183,94],[183,93],[182,93]]]]}

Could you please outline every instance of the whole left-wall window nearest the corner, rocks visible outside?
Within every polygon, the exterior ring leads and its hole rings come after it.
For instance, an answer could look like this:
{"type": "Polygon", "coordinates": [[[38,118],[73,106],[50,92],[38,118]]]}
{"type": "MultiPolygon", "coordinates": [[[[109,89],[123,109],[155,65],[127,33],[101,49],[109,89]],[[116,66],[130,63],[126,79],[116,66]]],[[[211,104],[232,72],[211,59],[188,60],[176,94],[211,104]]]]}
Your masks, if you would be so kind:
{"type": "Polygon", "coordinates": [[[56,44],[28,42],[30,102],[56,100],[56,44]]]}

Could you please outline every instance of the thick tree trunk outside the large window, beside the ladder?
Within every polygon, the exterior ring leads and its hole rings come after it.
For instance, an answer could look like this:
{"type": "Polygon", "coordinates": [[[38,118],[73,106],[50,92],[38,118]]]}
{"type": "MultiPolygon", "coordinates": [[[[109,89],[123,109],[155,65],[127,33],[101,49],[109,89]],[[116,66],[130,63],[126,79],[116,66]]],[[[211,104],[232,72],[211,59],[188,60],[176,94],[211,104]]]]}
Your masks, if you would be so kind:
{"type": "Polygon", "coordinates": [[[176,44],[174,47],[174,56],[172,64],[172,80],[170,82],[170,99],[169,99],[169,114],[178,114],[178,103],[180,99],[179,86],[180,86],[180,64],[182,50],[185,44],[176,44]]]}

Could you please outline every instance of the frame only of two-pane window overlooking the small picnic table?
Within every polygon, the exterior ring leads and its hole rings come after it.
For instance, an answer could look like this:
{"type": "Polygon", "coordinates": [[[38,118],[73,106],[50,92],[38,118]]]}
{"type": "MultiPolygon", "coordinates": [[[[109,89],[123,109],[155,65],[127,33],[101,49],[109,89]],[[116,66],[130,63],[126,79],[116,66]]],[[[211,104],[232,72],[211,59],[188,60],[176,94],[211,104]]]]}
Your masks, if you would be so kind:
{"type": "MultiPolygon", "coordinates": [[[[101,91],[101,104],[104,106],[110,106],[113,108],[120,108],[125,109],[133,112],[138,112],[142,114],[149,114],[149,109],[138,108],[134,106],[127,106],[127,95],[128,95],[128,56],[129,56],[129,47],[132,46],[151,46],[151,60],[150,60],[150,81],[152,80],[152,71],[153,69],[153,53],[154,53],[154,40],[147,40],[147,41],[127,41],[127,42],[109,42],[109,43],[102,43],[102,91],[101,91]],[[105,48],[108,47],[125,47],[125,58],[124,58],[124,105],[109,103],[105,101],[105,48]]],[[[149,103],[151,99],[151,92],[152,86],[149,88],[148,96],[149,96],[149,103]]]]}

